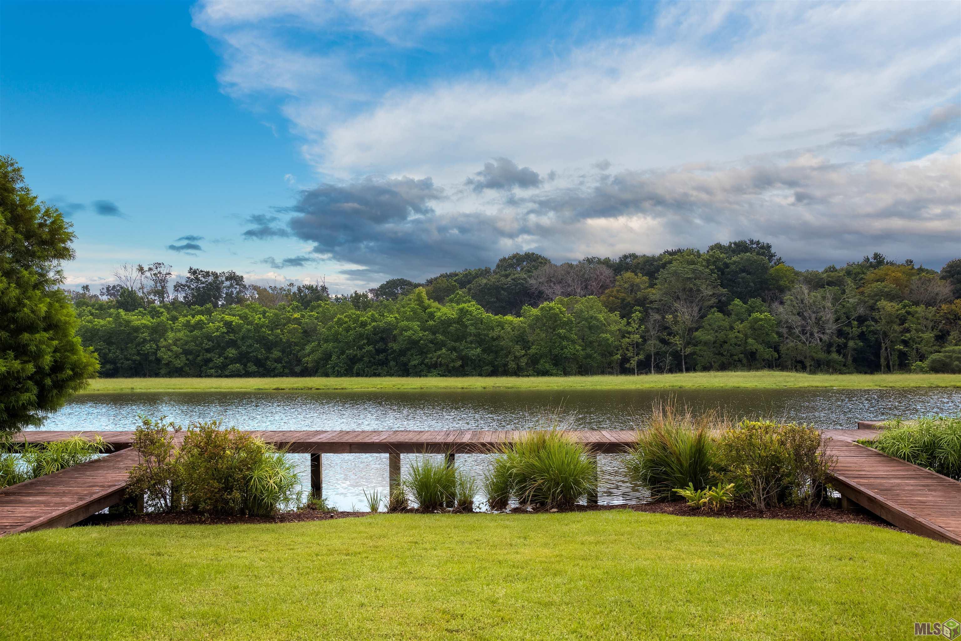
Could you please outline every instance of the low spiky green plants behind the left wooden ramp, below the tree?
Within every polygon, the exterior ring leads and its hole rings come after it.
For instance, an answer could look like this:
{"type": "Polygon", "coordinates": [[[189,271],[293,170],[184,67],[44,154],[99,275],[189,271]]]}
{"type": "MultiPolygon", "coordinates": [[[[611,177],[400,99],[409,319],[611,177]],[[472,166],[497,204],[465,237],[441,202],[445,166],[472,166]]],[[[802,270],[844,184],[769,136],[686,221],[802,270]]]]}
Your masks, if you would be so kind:
{"type": "MultiPolygon", "coordinates": [[[[30,481],[86,463],[105,452],[107,448],[108,445],[100,436],[92,440],[77,435],[50,443],[24,442],[20,447],[19,455],[0,454],[0,487],[30,481]]],[[[9,439],[5,441],[3,449],[12,449],[9,439]]]]}

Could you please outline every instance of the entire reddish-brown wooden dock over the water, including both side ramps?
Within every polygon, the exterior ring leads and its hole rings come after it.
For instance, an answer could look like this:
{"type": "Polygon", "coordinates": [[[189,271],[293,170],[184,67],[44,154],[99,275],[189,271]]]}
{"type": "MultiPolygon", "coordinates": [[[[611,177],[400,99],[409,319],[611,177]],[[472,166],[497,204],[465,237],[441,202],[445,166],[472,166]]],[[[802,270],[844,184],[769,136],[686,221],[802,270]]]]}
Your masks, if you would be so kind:
{"type": "MultiPolygon", "coordinates": [[[[861,427],[861,426],[859,426],[861,427]]],[[[877,431],[826,430],[828,453],[837,458],[833,485],[846,502],[871,510],[904,530],[961,544],[961,483],[883,455],[854,441],[877,431]]],[[[291,454],[310,456],[310,481],[322,491],[324,454],[387,454],[391,485],[400,479],[401,454],[475,454],[515,440],[522,431],[250,431],[291,454]]],[[[634,431],[570,431],[599,454],[624,452],[634,431]]],[[[0,535],[72,525],[123,498],[136,465],[132,431],[26,431],[22,442],[43,443],[83,434],[101,436],[115,454],[0,490],[0,535]]]]}

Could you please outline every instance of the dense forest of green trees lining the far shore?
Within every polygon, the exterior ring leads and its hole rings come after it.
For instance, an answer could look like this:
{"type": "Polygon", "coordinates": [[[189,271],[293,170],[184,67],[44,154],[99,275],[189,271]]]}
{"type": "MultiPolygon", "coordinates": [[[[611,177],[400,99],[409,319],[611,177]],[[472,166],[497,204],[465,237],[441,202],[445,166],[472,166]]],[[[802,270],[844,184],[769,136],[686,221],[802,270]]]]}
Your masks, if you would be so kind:
{"type": "Polygon", "coordinates": [[[193,267],[170,286],[160,262],[115,277],[69,292],[106,377],[961,373],[961,259],[799,271],[749,239],[562,264],[512,254],[351,295],[193,267]]]}

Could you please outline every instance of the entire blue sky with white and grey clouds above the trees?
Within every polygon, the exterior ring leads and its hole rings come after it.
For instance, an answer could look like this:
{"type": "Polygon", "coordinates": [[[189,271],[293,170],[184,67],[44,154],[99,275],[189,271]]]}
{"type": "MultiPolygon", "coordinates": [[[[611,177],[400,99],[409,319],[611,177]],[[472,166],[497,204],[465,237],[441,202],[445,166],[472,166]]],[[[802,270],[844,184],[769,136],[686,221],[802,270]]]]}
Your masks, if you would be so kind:
{"type": "Polygon", "coordinates": [[[762,237],[961,248],[955,3],[3,2],[0,151],[122,262],[334,290],[762,237]],[[178,249],[179,248],[179,249],[178,249]]]}

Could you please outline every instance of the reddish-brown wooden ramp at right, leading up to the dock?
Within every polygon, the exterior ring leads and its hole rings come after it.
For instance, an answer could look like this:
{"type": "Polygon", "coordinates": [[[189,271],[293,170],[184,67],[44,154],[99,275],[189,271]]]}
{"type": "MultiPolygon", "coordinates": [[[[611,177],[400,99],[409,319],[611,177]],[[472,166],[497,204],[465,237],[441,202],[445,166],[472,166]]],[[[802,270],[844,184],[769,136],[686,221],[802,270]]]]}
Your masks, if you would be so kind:
{"type": "Polygon", "coordinates": [[[885,521],[928,538],[961,544],[961,483],[855,443],[876,430],[825,430],[837,457],[832,483],[842,496],[885,521]]]}

